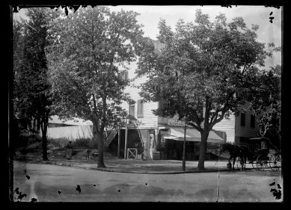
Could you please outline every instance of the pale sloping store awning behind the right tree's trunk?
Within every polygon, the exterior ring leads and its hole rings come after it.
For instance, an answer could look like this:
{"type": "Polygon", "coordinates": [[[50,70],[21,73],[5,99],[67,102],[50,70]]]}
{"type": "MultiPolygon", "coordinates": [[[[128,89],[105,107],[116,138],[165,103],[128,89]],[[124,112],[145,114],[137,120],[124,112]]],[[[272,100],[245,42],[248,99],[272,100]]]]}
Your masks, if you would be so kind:
{"type": "MultiPolygon", "coordinates": [[[[170,127],[167,131],[161,131],[162,138],[174,139],[176,141],[184,141],[184,129],[182,127],[170,127]]],[[[201,134],[194,128],[186,129],[186,141],[201,141],[201,134]]],[[[224,139],[219,137],[213,131],[209,132],[207,142],[221,143],[224,139]]]]}

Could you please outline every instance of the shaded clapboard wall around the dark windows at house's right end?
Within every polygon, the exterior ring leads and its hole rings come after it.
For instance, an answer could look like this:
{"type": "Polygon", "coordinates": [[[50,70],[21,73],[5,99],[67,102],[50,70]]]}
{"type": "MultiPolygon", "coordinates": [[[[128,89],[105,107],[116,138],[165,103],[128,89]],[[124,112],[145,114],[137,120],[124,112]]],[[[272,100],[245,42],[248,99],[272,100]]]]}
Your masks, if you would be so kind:
{"type": "MultiPolygon", "coordinates": [[[[247,109],[249,104],[244,104],[241,107],[247,109]]],[[[245,111],[245,126],[240,125],[240,113],[235,115],[235,136],[237,137],[256,137],[259,132],[257,119],[254,120],[254,127],[251,127],[251,114],[252,111],[245,111]]]]}

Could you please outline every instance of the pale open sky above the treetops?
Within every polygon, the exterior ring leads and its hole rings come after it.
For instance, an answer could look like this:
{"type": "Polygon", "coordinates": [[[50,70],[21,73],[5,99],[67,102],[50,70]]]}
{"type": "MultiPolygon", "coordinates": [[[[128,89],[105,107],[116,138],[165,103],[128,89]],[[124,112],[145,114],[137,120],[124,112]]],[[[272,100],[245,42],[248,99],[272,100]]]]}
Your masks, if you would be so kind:
{"type": "MultiPolygon", "coordinates": [[[[164,19],[173,30],[176,22],[183,19],[185,22],[194,22],[195,11],[200,8],[202,13],[207,13],[211,21],[216,15],[224,13],[227,21],[231,21],[235,17],[243,17],[247,27],[252,27],[252,24],[259,25],[257,31],[257,40],[263,43],[275,43],[276,46],[281,46],[281,8],[271,8],[264,6],[108,6],[112,11],[134,10],[140,13],[136,18],[143,25],[144,36],[148,36],[154,40],[157,39],[159,33],[157,29],[160,19],[164,19]],[[271,14],[272,13],[272,14],[271,14]],[[271,14],[271,15],[270,15],[271,14]],[[273,23],[270,22],[270,17],[273,17],[273,23]]],[[[20,9],[19,13],[13,13],[13,18],[19,20],[19,17],[25,18],[25,9],[20,9]]],[[[276,52],[272,58],[266,59],[265,68],[281,64],[281,53],[276,52]]]]}

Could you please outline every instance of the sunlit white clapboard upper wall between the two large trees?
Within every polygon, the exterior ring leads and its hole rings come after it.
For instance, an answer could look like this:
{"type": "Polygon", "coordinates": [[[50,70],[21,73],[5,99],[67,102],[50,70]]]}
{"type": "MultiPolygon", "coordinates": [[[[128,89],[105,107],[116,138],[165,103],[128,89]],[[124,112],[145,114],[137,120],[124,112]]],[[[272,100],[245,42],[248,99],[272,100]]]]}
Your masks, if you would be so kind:
{"type": "MultiPolygon", "coordinates": [[[[134,85],[141,85],[142,83],[146,83],[148,78],[146,76],[143,76],[141,78],[136,78],[136,71],[137,66],[136,63],[132,63],[127,66],[129,68],[128,76],[129,80],[134,79],[131,81],[131,83],[125,88],[124,92],[128,92],[131,99],[134,99],[135,102],[138,101],[138,99],[143,99],[139,92],[141,91],[137,87],[134,87],[134,85]]],[[[134,104],[134,116],[137,118],[138,122],[141,123],[138,125],[138,128],[153,128],[157,127],[157,116],[153,114],[153,109],[157,109],[157,102],[144,102],[143,104],[143,117],[137,117],[137,103],[134,104]]],[[[129,104],[127,102],[122,103],[122,108],[129,111],[129,104]]]]}

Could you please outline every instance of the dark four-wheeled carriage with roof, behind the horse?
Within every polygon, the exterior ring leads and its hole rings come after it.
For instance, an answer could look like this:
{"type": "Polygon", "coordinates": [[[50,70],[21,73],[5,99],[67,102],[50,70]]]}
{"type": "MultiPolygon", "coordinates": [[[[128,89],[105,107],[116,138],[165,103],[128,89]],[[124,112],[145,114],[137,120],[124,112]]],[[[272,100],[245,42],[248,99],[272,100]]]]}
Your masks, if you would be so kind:
{"type": "MultiPolygon", "coordinates": [[[[281,167],[281,153],[278,149],[271,146],[270,139],[254,137],[249,140],[241,143],[241,145],[247,146],[250,151],[247,158],[249,164],[252,164],[252,167],[259,171],[271,168],[272,171],[277,172],[281,167]]],[[[236,159],[237,167],[241,168],[241,158],[238,157],[236,159]]]]}

